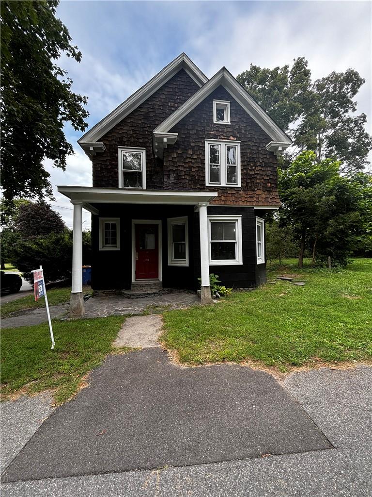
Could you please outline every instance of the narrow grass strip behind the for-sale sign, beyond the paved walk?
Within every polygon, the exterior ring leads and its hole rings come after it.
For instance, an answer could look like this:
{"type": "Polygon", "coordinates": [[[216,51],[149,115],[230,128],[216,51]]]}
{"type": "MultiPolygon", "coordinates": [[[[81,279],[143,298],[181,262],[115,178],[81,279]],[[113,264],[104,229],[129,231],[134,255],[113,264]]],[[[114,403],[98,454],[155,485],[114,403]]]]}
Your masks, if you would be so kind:
{"type": "MultiPolygon", "coordinates": [[[[83,291],[86,293],[91,290],[90,287],[84,287],[83,291]]],[[[64,304],[70,299],[71,287],[51,288],[47,290],[49,306],[57,306],[64,304]]],[[[35,302],[33,295],[20,297],[19,299],[12,300],[1,304],[1,318],[6,318],[14,313],[20,313],[29,309],[38,309],[45,307],[45,299],[41,298],[35,302]]]]}

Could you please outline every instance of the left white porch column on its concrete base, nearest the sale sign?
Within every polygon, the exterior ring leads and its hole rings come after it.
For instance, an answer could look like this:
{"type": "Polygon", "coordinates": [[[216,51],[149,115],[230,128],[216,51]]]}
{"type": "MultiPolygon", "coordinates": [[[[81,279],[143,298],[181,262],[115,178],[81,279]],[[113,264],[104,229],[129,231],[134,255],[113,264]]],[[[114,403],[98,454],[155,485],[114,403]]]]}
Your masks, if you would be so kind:
{"type": "Polygon", "coordinates": [[[72,288],[70,297],[70,317],[84,316],[83,297],[83,203],[74,202],[72,232],[72,288]]]}

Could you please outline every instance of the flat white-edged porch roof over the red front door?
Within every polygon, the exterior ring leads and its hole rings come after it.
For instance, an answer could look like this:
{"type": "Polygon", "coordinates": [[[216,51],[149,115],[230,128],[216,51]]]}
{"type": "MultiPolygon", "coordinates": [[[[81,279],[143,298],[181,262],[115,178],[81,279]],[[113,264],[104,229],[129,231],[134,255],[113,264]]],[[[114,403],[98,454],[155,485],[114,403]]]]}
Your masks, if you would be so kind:
{"type": "Polygon", "coordinates": [[[209,203],[218,193],[205,190],[139,190],[127,188],[95,188],[92,186],[57,186],[71,202],[82,202],[83,207],[97,214],[92,203],[108,204],[178,204],[209,203]]]}

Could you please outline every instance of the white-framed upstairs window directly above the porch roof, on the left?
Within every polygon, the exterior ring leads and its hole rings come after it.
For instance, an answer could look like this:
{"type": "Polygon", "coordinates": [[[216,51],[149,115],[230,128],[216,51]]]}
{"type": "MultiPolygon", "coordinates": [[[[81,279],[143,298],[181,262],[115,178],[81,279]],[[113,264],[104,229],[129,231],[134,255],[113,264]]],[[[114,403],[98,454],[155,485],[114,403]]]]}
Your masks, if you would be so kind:
{"type": "Polygon", "coordinates": [[[146,189],[146,150],[119,147],[119,188],[146,189]]]}

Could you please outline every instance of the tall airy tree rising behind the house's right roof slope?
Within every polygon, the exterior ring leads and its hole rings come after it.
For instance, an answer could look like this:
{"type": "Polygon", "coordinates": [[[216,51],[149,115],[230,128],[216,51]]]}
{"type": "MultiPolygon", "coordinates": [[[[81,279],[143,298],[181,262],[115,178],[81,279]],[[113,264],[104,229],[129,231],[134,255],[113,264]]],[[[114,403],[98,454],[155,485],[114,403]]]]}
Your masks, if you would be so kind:
{"type": "Polygon", "coordinates": [[[305,150],[313,151],[318,163],[340,160],[348,173],[368,164],[372,139],[365,130],[367,117],[354,115],[354,97],[365,80],[354,69],[311,82],[308,62],[300,57],[291,69],[251,64],[237,80],[291,136],[294,147],[284,155],[287,166],[305,150]]]}

